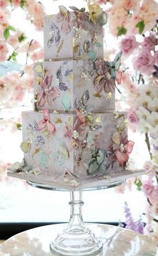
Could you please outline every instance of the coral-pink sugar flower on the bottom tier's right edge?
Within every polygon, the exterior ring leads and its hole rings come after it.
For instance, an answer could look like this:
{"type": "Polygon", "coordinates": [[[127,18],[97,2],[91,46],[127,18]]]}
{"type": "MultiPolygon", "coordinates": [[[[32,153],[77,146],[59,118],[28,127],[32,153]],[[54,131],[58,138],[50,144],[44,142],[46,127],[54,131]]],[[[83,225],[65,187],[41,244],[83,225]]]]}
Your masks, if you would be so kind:
{"type": "Polygon", "coordinates": [[[135,142],[127,139],[127,132],[124,130],[120,135],[120,141],[112,145],[118,163],[123,164],[129,160],[134,144],[135,142]]]}

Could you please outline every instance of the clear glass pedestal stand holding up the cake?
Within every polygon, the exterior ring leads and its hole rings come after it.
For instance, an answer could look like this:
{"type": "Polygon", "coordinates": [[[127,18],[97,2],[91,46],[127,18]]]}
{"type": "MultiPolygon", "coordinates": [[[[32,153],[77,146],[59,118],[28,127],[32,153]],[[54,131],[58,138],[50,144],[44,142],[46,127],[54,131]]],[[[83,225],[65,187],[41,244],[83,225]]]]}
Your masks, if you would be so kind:
{"type": "MultiPolygon", "coordinates": [[[[26,181],[27,184],[32,187],[41,189],[49,189],[55,191],[70,191],[68,189],[61,189],[51,187],[41,183],[34,183],[32,181],[26,181]]],[[[92,255],[100,253],[102,250],[102,242],[95,236],[82,219],[82,191],[96,190],[96,189],[107,189],[110,187],[116,187],[124,183],[125,180],[115,181],[109,183],[106,186],[97,186],[80,191],[70,191],[70,220],[64,230],[57,235],[56,239],[50,243],[50,250],[58,253],[59,255],[71,255],[71,256],[82,256],[92,255]]]]}

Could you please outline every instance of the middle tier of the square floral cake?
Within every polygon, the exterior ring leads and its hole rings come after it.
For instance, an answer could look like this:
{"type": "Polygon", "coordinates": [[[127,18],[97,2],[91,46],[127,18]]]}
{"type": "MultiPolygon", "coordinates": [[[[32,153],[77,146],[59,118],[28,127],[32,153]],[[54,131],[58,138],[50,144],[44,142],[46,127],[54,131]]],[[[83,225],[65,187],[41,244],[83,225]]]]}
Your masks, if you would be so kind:
{"type": "Polygon", "coordinates": [[[104,113],[114,110],[115,79],[104,60],[58,60],[34,65],[36,109],[104,113]]]}

